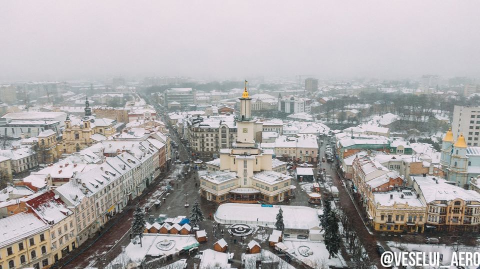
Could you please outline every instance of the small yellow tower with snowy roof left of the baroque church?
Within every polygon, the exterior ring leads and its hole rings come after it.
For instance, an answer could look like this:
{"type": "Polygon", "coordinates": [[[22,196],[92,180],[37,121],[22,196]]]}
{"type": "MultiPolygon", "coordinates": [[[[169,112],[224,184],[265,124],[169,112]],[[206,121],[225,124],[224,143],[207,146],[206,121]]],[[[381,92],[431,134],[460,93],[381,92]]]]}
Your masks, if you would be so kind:
{"type": "Polygon", "coordinates": [[[38,134],[38,163],[54,163],[61,155],[61,144],[56,141],[56,133],[52,130],[45,130],[38,134]]]}

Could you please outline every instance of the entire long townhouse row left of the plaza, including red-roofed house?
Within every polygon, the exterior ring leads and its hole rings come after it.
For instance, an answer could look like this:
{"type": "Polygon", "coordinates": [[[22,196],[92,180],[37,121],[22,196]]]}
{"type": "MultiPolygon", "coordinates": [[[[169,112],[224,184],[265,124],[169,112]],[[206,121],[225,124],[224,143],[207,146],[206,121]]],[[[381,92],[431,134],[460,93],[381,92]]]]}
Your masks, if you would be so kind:
{"type": "Polygon", "coordinates": [[[101,154],[91,157],[99,160],[91,169],[52,190],[3,202],[12,214],[0,219],[0,269],[48,268],[84,243],[159,175],[163,146],[153,138],[104,140],[85,152],[101,154]]]}

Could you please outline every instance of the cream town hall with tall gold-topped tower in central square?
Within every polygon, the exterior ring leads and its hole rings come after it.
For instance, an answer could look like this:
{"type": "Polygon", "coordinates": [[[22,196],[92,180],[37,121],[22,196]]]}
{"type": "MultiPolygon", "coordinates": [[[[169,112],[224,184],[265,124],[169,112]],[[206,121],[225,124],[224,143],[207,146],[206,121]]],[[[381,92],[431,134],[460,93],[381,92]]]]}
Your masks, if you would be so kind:
{"type": "Polygon", "coordinates": [[[236,119],[236,142],[230,149],[220,149],[220,158],[208,163],[213,173],[201,177],[200,195],[208,201],[281,202],[291,192],[291,177],[272,171],[272,150],[260,149],[255,134],[261,124],[251,117],[251,98],[243,91],[240,115],[236,119]]]}

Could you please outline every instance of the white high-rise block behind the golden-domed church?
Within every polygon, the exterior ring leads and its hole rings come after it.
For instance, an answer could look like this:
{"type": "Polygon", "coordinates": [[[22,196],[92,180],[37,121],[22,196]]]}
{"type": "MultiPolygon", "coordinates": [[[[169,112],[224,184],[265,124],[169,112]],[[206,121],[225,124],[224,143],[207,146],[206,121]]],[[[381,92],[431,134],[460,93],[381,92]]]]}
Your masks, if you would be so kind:
{"type": "Polygon", "coordinates": [[[451,124],[453,139],[463,133],[468,146],[480,146],[480,107],[455,106],[451,124]]]}

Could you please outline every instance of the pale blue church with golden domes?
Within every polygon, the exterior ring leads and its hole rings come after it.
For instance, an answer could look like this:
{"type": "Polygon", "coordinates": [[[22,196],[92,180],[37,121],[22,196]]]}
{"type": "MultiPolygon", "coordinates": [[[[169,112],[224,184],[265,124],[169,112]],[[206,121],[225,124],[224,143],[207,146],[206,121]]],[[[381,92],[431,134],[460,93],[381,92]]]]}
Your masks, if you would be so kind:
{"type": "Polygon", "coordinates": [[[480,175],[480,147],[467,146],[463,134],[455,138],[450,128],[442,139],[440,164],[446,180],[468,188],[470,178],[480,175]]]}

